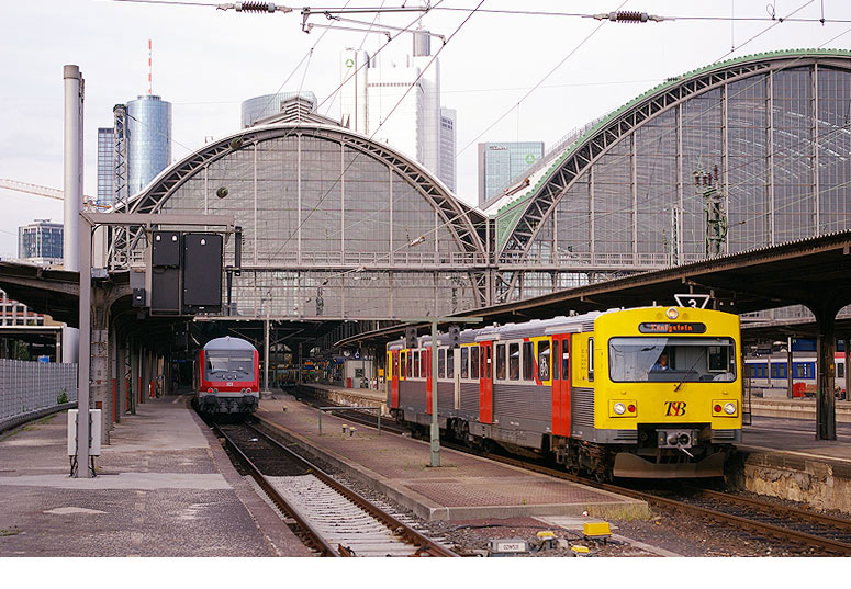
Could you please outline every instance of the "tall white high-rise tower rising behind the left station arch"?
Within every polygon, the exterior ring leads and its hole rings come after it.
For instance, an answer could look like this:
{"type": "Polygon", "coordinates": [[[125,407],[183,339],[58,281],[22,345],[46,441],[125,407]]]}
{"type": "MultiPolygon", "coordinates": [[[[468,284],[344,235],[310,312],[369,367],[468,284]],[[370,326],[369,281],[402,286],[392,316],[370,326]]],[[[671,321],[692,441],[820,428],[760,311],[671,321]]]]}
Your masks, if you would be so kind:
{"type": "MultiPolygon", "coordinates": [[[[455,190],[455,149],[444,149],[440,63],[432,57],[427,31],[414,33],[404,66],[377,64],[363,50],[346,49],[340,65],[343,125],[416,159],[455,190]],[[429,65],[430,64],[430,65],[429,65]]],[[[448,137],[446,137],[448,140],[448,137]]]]}

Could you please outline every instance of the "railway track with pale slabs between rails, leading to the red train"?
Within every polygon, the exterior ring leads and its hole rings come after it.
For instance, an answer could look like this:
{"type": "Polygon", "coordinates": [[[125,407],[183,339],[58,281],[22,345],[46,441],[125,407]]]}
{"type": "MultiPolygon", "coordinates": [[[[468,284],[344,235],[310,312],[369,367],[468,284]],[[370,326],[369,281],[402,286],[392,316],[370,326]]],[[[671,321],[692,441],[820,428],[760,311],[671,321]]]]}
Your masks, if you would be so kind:
{"type": "Polygon", "coordinates": [[[213,424],[322,556],[458,556],[249,424],[213,424]]]}

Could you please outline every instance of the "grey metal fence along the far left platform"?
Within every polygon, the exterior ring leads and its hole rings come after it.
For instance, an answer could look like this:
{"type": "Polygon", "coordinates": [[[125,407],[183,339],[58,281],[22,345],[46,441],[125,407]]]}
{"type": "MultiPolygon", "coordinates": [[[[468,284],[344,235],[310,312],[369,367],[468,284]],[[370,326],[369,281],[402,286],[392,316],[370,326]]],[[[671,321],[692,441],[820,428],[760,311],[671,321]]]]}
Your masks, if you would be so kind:
{"type": "Polygon", "coordinates": [[[22,418],[77,403],[77,364],[0,360],[0,429],[22,418]]]}

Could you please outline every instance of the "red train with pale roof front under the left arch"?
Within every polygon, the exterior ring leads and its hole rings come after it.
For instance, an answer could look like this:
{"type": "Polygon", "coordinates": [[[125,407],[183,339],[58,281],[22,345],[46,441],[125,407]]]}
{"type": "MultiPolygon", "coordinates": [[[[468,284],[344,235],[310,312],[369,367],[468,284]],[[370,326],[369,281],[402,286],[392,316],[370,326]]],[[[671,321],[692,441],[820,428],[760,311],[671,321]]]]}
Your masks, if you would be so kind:
{"type": "Polygon", "coordinates": [[[193,381],[202,414],[248,416],[260,401],[257,349],[229,336],[210,340],[195,356],[193,381]]]}

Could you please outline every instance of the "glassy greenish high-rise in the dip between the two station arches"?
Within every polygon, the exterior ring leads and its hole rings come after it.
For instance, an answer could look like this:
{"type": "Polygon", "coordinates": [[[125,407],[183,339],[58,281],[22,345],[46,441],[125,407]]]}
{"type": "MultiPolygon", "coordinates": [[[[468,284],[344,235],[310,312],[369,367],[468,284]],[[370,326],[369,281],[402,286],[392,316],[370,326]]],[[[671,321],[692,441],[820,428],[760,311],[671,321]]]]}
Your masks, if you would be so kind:
{"type": "Polygon", "coordinates": [[[541,141],[479,144],[479,204],[495,196],[544,157],[541,141]]]}

